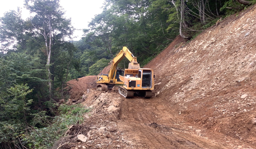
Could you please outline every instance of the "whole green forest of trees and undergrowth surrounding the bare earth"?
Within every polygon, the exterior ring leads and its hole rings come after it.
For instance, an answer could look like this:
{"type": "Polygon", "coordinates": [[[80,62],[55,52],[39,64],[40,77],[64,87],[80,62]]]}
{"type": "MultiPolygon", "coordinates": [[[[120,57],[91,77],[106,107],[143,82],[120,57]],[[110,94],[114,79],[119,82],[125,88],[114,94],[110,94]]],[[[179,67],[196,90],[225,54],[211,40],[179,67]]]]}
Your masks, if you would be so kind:
{"type": "Polygon", "coordinates": [[[31,12],[26,20],[20,11],[0,18],[0,148],[51,148],[90,110],[59,103],[69,98],[67,81],[99,74],[123,46],[143,66],[178,35],[189,42],[255,3],[106,0],[83,38],[73,41],[75,29],[59,2],[25,0],[31,12]]]}

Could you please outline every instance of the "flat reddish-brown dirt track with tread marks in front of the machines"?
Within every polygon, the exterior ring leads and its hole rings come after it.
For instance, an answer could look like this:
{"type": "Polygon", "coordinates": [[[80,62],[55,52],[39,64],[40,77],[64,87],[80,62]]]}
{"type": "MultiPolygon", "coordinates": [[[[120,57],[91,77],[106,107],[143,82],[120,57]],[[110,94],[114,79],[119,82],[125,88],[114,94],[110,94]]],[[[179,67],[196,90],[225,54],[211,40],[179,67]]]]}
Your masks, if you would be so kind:
{"type": "Polygon", "coordinates": [[[164,122],[165,125],[161,125],[161,118],[172,116],[170,111],[165,111],[168,109],[158,110],[159,104],[156,100],[139,97],[123,99],[119,126],[138,142],[135,148],[226,148],[175,128],[177,125],[173,123],[164,122]]]}

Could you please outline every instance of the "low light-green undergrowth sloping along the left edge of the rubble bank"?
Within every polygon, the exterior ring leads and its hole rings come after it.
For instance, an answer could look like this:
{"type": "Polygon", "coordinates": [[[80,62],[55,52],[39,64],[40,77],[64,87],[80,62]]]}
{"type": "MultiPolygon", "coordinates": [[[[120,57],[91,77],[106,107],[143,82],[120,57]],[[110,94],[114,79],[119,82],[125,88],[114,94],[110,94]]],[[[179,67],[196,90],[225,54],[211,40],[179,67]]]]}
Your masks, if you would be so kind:
{"type": "Polygon", "coordinates": [[[51,148],[54,141],[65,135],[68,130],[67,126],[83,122],[83,115],[89,112],[89,109],[81,104],[72,106],[62,104],[59,107],[59,112],[60,115],[54,117],[49,126],[30,128],[30,132],[22,136],[22,142],[26,143],[29,148],[51,148]]]}

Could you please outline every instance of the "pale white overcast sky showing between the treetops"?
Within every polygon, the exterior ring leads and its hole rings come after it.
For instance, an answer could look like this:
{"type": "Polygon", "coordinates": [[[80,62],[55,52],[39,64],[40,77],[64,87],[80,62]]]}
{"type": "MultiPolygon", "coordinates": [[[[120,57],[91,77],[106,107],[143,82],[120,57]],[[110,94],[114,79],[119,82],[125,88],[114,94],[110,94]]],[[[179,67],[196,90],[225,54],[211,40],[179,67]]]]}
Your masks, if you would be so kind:
{"type": "MultiPolygon", "coordinates": [[[[81,39],[83,32],[82,29],[87,28],[87,25],[92,20],[94,15],[102,12],[104,0],[60,0],[60,5],[66,11],[66,17],[71,18],[71,23],[76,30],[74,40],[81,39]]],[[[1,1],[0,4],[0,17],[6,11],[15,10],[17,7],[22,8],[22,18],[26,19],[29,16],[29,11],[23,8],[23,0],[7,0],[1,1]]]]}

